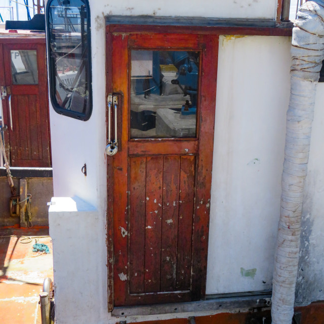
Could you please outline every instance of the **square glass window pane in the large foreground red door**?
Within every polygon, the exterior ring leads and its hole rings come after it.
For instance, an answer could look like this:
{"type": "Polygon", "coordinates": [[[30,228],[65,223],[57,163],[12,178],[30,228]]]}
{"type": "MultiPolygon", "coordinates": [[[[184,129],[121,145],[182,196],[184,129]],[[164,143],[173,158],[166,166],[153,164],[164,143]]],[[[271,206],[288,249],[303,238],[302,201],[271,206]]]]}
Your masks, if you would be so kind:
{"type": "Polygon", "coordinates": [[[195,137],[199,52],[131,52],[131,138],[195,137]]]}

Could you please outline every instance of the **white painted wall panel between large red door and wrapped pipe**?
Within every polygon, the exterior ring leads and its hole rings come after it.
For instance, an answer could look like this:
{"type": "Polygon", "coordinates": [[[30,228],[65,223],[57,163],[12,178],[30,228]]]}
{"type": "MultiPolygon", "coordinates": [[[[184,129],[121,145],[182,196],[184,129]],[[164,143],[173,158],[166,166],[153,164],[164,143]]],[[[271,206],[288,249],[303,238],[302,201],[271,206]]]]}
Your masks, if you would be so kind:
{"type": "Polygon", "coordinates": [[[220,39],[208,294],[271,289],[290,44],[290,37],[220,39]],[[254,278],[241,268],[256,269],[254,278]]]}

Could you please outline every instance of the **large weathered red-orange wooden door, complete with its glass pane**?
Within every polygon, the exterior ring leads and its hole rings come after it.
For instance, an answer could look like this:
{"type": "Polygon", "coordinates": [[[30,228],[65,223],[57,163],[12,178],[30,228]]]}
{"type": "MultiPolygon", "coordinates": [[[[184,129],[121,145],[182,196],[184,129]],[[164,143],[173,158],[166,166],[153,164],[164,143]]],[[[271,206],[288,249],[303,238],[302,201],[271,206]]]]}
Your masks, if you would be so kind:
{"type": "Polygon", "coordinates": [[[106,44],[109,309],[204,299],[218,37],[106,44]]]}

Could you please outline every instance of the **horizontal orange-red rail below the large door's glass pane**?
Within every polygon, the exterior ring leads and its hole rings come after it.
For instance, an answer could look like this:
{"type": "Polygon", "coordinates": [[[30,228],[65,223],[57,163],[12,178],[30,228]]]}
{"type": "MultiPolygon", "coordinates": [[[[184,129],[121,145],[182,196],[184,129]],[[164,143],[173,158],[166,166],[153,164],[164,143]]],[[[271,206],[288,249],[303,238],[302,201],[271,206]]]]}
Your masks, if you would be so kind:
{"type": "Polygon", "coordinates": [[[130,155],[157,155],[165,154],[168,147],[169,154],[196,154],[198,152],[197,140],[160,140],[160,141],[130,141],[128,151],[130,155]]]}

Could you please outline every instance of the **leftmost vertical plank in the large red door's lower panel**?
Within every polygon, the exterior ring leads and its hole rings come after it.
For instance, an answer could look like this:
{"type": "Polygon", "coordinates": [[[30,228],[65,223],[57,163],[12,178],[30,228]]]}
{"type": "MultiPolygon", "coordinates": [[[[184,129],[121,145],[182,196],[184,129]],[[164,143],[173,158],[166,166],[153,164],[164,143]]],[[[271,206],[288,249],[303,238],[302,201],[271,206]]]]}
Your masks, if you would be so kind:
{"type": "Polygon", "coordinates": [[[130,158],[130,293],[144,292],[146,158],[130,158]]]}

